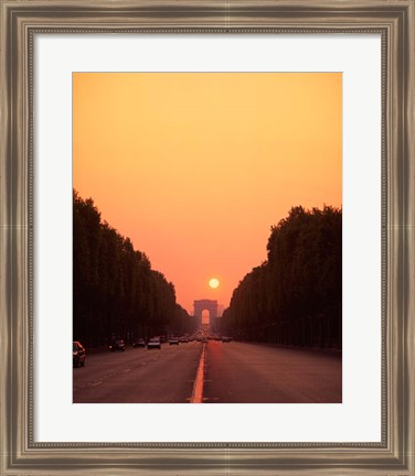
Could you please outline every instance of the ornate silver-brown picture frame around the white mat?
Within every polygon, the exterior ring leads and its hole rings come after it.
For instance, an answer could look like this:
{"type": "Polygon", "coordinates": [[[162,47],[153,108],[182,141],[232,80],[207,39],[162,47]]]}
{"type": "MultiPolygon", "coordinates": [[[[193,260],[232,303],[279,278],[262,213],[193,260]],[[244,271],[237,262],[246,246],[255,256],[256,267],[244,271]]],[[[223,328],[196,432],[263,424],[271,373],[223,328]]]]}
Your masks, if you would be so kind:
{"type": "Polygon", "coordinates": [[[414,0],[0,0],[0,475],[415,475],[414,0]],[[33,36],[39,32],[381,33],[381,443],[35,443],[33,36]]]}

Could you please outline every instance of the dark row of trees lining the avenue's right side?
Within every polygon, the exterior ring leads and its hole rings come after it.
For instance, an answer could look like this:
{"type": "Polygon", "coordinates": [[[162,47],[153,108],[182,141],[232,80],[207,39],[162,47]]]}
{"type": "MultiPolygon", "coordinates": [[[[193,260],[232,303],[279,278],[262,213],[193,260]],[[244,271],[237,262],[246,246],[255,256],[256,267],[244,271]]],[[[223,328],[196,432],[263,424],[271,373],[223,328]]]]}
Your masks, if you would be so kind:
{"type": "Polygon", "coordinates": [[[272,227],[267,261],[234,290],[222,332],[281,345],[341,348],[342,210],[290,209],[272,227]]]}

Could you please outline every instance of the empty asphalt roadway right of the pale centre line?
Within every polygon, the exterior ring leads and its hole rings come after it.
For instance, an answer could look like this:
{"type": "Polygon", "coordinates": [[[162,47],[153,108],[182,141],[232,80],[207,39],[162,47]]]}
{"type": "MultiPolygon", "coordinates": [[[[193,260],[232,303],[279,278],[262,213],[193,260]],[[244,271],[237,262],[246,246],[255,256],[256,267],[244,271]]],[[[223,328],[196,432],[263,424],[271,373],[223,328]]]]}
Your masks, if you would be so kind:
{"type": "Polygon", "coordinates": [[[210,342],[204,403],[340,403],[341,357],[316,350],[210,342]]]}

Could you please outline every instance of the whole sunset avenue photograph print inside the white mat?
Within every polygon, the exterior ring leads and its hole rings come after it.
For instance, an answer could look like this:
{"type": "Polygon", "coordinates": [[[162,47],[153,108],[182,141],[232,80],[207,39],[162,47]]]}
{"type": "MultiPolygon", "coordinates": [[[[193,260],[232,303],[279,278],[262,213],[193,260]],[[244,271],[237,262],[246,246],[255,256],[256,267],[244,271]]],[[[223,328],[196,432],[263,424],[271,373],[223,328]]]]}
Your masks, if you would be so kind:
{"type": "Polygon", "coordinates": [[[73,402],[342,402],[342,74],[73,74],[73,402]]]}

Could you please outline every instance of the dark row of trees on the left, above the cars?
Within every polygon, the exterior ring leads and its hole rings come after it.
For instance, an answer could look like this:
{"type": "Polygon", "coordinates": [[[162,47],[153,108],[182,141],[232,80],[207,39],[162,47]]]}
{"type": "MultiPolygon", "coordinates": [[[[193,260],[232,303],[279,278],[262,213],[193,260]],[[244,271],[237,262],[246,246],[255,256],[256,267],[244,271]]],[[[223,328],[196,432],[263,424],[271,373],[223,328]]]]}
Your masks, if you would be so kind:
{"type": "Polygon", "coordinates": [[[184,333],[193,320],[175,291],[129,238],[102,220],[92,198],[73,194],[73,336],[87,347],[121,337],[184,333]]]}

